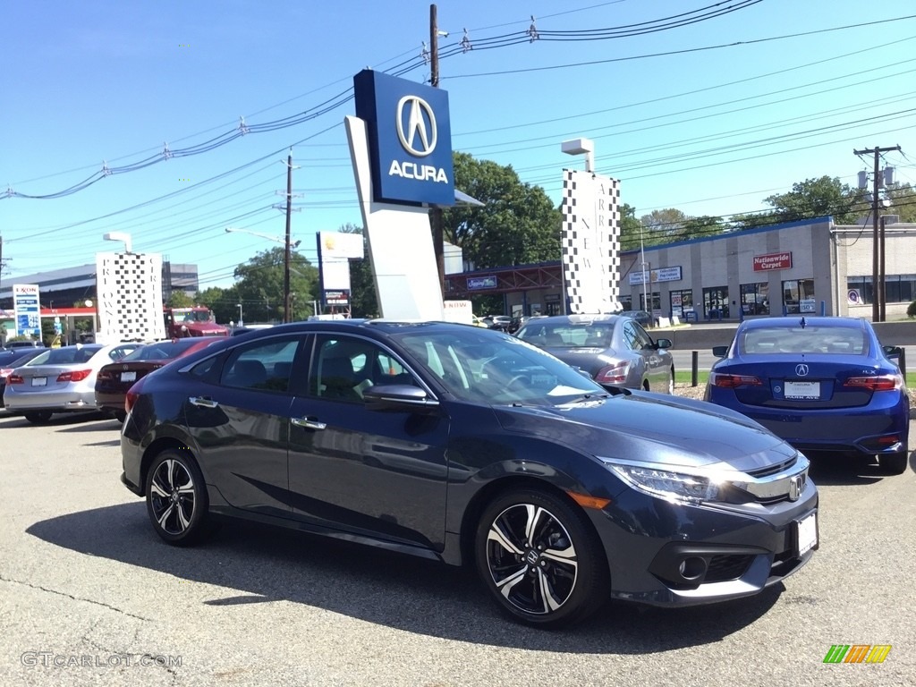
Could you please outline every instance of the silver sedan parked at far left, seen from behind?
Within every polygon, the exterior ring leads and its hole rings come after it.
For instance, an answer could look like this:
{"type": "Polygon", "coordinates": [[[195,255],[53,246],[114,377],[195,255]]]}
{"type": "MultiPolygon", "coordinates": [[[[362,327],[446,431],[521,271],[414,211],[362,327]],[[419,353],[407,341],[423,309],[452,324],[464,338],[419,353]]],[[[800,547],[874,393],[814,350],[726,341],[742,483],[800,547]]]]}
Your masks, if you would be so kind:
{"type": "Polygon", "coordinates": [[[77,344],[49,348],[16,367],[6,378],[6,410],[42,423],[54,413],[95,409],[95,376],[103,365],[114,363],[142,344],[77,344]]]}

